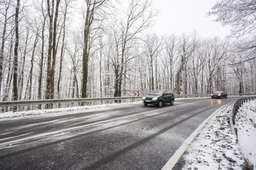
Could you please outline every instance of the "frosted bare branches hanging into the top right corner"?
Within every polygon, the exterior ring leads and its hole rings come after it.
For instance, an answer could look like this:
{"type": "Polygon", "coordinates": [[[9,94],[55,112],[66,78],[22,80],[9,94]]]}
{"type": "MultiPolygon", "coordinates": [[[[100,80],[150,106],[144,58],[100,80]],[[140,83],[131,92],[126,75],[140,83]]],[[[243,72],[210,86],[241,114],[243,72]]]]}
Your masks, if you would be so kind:
{"type": "Polygon", "coordinates": [[[245,41],[242,50],[250,50],[250,58],[254,60],[256,52],[256,1],[222,0],[213,6],[208,15],[216,16],[215,21],[224,26],[232,26],[232,35],[245,41]]]}

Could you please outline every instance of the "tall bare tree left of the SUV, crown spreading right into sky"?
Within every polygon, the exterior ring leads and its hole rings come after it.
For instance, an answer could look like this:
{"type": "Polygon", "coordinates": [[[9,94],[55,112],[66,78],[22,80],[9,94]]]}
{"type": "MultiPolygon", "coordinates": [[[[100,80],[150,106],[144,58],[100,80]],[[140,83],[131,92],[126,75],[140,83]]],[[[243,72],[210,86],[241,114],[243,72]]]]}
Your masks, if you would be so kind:
{"type": "Polygon", "coordinates": [[[137,35],[151,26],[151,19],[156,16],[156,13],[151,10],[151,1],[132,0],[129,1],[128,11],[124,15],[117,30],[114,30],[117,50],[117,57],[115,57],[116,60],[113,62],[115,97],[121,96],[122,94],[124,65],[127,63],[125,56],[127,50],[129,50],[129,45],[131,45],[134,40],[139,40],[137,35]]]}

